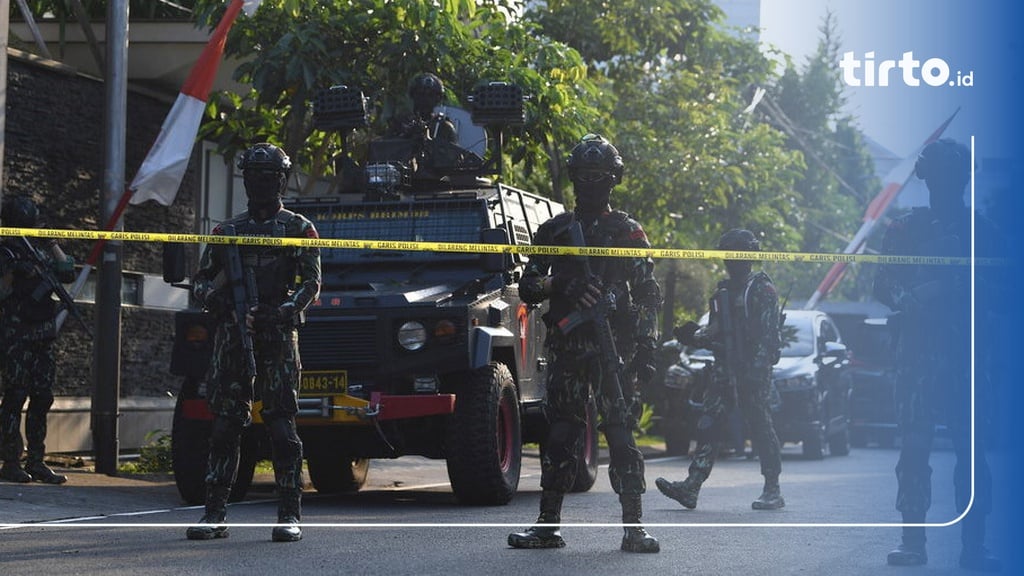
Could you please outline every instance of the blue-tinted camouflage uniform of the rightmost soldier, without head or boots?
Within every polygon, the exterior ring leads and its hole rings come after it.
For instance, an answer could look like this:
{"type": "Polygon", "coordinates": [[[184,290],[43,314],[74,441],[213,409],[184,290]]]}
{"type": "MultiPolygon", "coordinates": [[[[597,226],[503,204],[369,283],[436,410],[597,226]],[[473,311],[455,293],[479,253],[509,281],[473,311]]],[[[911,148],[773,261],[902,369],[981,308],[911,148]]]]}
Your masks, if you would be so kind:
{"type": "MultiPolygon", "coordinates": [[[[969,256],[970,223],[966,209],[956,221],[942,222],[930,209],[915,208],[889,227],[883,253],[969,256]]],[[[984,246],[995,234],[989,220],[976,215],[979,255],[985,253],[984,246]]],[[[969,275],[969,266],[894,264],[882,266],[876,278],[874,296],[898,313],[890,317],[896,335],[896,413],[902,438],[896,464],[896,509],[907,524],[924,523],[931,507],[929,459],[938,423],[946,424],[956,455],[953,486],[957,515],[967,509],[971,499],[969,275]]],[[[982,295],[976,298],[979,317],[984,316],[989,301],[982,295]]],[[[983,384],[984,378],[977,381],[983,384]]],[[[978,427],[979,433],[983,430],[983,426],[978,427]]],[[[962,529],[966,547],[981,546],[984,519],[992,505],[984,437],[975,437],[974,503],[962,529]]],[[[903,542],[923,551],[924,528],[905,528],[903,542]]]]}

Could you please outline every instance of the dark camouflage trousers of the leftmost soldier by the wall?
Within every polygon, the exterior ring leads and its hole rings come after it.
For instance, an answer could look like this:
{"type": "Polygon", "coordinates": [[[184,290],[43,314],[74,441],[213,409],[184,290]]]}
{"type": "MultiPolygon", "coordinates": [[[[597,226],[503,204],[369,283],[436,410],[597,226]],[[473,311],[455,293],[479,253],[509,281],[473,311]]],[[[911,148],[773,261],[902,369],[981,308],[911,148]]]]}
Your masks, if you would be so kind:
{"type": "Polygon", "coordinates": [[[7,347],[0,363],[4,385],[0,402],[0,459],[16,462],[28,441],[29,461],[42,461],[46,453],[46,415],[53,405],[56,374],[53,340],[9,340],[7,347]],[[29,409],[23,439],[22,409],[26,401],[29,409]]]}

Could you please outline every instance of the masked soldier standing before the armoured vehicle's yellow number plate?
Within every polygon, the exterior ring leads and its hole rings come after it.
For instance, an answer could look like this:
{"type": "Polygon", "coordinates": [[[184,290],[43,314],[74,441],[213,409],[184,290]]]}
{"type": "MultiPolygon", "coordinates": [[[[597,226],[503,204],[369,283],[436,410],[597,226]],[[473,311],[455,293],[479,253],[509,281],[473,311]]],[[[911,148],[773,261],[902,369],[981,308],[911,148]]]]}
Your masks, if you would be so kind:
{"type": "MultiPolygon", "coordinates": [[[[281,203],[291,161],[280,148],[258,143],[239,159],[249,210],[222,222],[215,235],[317,238],[312,222],[286,210],[281,203]]],[[[298,326],[305,308],[319,294],[318,248],[241,245],[242,266],[254,271],[259,303],[246,318],[233,314],[231,287],[225,282],[225,245],[206,247],[196,273],[194,294],[210,313],[223,320],[214,337],[213,362],[207,379],[214,415],[207,471],[206,513],[188,528],[191,540],[227,536],[221,525],[239,467],[242,429],[251,422],[254,400],[270,434],[274,482],[280,503],[274,541],[302,537],[298,527],[302,495],[302,442],[295,428],[298,412],[298,326]],[[252,332],[256,377],[245,375],[239,323],[252,332]],[[254,389],[255,388],[255,389],[254,389]]]]}

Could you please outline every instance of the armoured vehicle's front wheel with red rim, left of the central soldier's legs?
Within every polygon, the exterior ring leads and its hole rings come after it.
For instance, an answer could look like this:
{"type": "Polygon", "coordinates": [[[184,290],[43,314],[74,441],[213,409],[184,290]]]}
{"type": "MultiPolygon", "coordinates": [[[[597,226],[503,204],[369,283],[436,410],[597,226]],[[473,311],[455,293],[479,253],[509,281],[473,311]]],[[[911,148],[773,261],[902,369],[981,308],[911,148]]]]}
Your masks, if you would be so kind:
{"type": "Polygon", "coordinates": [[[500,362],[469,373],[458,387],[445,441],[452,491],[463,504],[507,504],[519,487],[519,395],[500,362]]]}

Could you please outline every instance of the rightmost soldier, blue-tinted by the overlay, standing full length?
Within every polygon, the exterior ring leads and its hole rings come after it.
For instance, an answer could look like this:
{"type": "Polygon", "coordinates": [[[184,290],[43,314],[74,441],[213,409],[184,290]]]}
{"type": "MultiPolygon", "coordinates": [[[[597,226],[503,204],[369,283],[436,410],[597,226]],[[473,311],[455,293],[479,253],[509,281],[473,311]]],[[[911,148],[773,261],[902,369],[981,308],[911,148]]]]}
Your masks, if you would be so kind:
{"type": "MultiPolygon", "coordinates": [[[[914,208],[894,220],[883,239],[883,252],[899,255],[971,255],[971,210],[964,191],[971,178],[971,152],[964,145],[943,138],[922,151],[914,173],[929,190],[929,206],[914,208]]],[[[974,214],[975,251],[993,255],[1001,245],[991,220],[974,214]]],[[[990,314],[999,296],[986,293],[993,287],[990,270],[979,266],[976,279],[976,314],[990,314]]],[[[904,524],[923,524],[932,500],[929,458],[935,425],[945,422],[956,454],[953,486],[957,515],[971,500],[971,300],[970,266],[891,264],[882,266],[874,280],[874,297],[892,308],[898,380],[897,418],[902,445],[896,464],[896,509],[904,524]]],[[[981,348],[979,348],[981,349],[981,348]]],[[[979,363],[979,366],[981,364],[979,363]]],[[[983,383],[984,378],[978,378],[983,383]]],[[[983,394],[985,390],[980,390],[983,394]]],[[[959,565],[980,571],[997,571],[1000,562],[984,546],[985,517],[991,509],[991,474],[985,459],[984,426],[975,437],[974,503],[962,521],[959,565]]],[[[900,545],[889,552],[893,566],[928,562],[924,527],[904,527],[900,545]]]]}

